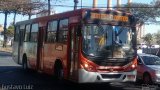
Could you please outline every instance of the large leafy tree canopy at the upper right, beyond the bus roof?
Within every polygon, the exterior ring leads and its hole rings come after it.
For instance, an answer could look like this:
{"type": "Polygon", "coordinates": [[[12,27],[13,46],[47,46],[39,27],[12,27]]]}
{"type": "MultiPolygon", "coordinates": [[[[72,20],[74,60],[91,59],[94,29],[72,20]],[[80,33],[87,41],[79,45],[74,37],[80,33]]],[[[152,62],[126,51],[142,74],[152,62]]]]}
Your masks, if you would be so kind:
{"type": "MultiPolygon", "coordinates": [[[[160,2],[160,1],[159,1],[160,2]]],[[[160,11],[156,8],[155,3],[145,4],[145,3],[131,3],[124,5],[124,10],[128,10],[139,19],[140,25],[143,25],[145,22],[155,22],[156,17],[160,16],[160,11]]]]}

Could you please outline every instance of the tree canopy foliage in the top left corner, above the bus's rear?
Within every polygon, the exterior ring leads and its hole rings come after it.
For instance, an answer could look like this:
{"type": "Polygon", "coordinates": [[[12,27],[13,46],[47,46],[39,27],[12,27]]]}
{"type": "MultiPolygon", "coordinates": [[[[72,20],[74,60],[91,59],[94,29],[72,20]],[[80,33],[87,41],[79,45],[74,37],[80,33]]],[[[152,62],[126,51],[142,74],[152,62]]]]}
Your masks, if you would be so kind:
{"type": "Polygon", "coordinates": [[[45,6],[40,0],[1,0],[0,11],[19,14],[35,14],[35,10],[42,9],[45,6]]]}

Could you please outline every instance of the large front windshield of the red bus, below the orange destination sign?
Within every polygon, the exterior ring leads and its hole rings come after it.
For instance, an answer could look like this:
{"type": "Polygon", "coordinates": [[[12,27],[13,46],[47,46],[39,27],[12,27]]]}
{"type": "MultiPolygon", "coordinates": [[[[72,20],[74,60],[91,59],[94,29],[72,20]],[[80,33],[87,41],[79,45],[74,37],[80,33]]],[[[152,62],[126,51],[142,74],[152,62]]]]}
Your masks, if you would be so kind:
{"type": "Polygon", "coordinates": [[[133,56],[132,32],[129,27],[88,24],[84,26],[82,35],[82,50],[88,56],[107,58],[133,56]]]}

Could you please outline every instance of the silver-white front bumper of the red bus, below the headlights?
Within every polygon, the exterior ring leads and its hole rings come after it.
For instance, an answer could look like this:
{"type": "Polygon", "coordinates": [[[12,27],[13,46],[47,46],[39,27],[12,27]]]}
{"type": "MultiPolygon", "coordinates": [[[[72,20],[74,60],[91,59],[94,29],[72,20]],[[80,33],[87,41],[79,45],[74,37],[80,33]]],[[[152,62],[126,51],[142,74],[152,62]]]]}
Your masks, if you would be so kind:
{"type": "Polygon", "coordinates": [[[135,82],[137,71],[130,72],[89,72],[79,69],[79,83],[98,83],[98,82],[135,82]]]}

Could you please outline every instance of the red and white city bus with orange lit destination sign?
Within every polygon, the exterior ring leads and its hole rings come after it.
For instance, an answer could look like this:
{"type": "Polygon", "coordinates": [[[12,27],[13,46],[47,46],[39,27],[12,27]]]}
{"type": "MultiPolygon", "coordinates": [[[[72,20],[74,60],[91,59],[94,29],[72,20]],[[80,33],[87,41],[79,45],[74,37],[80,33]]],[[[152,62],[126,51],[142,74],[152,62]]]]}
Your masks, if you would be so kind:
{"type": "Polygon", "coordinates": [[[17,22],[13,59],[57,80],[134,82],[136,19],[124,11],[86,8],[17,22]]]}

